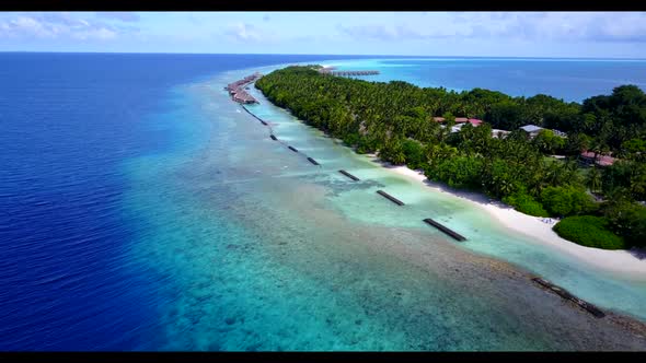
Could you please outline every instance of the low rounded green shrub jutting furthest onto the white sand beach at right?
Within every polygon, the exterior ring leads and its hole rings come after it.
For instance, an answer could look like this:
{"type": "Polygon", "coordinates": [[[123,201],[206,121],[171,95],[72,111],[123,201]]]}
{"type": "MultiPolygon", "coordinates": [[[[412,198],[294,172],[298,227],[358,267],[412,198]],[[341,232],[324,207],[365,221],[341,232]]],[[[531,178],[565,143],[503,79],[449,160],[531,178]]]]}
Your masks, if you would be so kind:
{"type": "Polygon", "coordinates": [[[602,216],[576,215],[561,220],[554,225],[554,232],[582,246],[623,249],[625,246],[623,238],[608,230],[609,224],[609,221],[602,216]]]}

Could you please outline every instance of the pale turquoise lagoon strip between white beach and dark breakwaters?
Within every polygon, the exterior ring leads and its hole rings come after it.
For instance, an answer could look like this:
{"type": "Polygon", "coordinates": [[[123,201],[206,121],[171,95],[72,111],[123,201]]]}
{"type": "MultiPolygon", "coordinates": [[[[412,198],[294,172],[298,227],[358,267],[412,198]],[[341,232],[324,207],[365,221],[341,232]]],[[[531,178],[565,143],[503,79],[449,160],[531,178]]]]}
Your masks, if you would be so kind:
{"type": "MultiPolygon", "coordinates": [[[[258,92],[255,95],[262,97],[258,92]]],[[[290,140],[299,150],[324,161],[330,171],[345,168],[360,179],[367,179],[367,185],[377,183],[369,189],[350,190],[334,198],[335,209],[346,218],[380,225],[423,227],[426,233],[441,238],[441,233],[428,231],[426,225],[420,225],[422,219],[432,218],[469,236],[466,243],[459,244],[461,248],[503,258],[570,289],[581,298],[646,319],[646,305],[643,304],[646,298],[646,277],[600,271],[563,251],[540,245],[532,242],[531,237],[505,229],[498,221],[461,199],[429,190],[430,188],[415,180],[393,175],[376,165],[372,157],[357,155],[348,148],[322,138],[321,131],[302,126],[285,110],[268,105],[268,102],[255,108],[257,110],[254,113],[263,118],[286,119],[286,124],[289,125],[287,128],[275,128],[280,139],[290,140]],[[308,147],[302,147],[303,143],[308,147]],[[406,208],[374,209],[374,212],[367,213],[367,206],[390,206],[390,201],[374,198],[373,195],[377,189],[384,186],[388,192],[404,201],[406,208]]],[[[345,182],[345,177],[341,175],[333,177],[345,182]]]]}

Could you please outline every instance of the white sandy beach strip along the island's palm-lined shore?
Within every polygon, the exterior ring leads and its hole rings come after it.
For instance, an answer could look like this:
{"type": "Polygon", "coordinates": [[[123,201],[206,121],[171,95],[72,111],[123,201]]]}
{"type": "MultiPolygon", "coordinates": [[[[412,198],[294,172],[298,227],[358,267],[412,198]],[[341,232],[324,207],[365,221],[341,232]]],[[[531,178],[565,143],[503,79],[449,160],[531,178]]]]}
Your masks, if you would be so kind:
{"type": "Polygon", "coordinates": [[[422,172],[412,171],[406,166],[391,166],[388,163],[382,163],[382,165],[388,166],[387,169],[393,173],[424,183],[436,191],[447,192],[478,206],[505,226],[531,236],[538,243],[570,254],[598,268],[628,274],[646,273],[646,259],[639,259],[627,250],[607,250],[577,245],[561,238],[552,231],[553,224],[542,222],[541,218],[523,214],[503,202],[491,201],[489,198],[481,194],[450,189],[447,186],[428,180],[422,172]]]}

